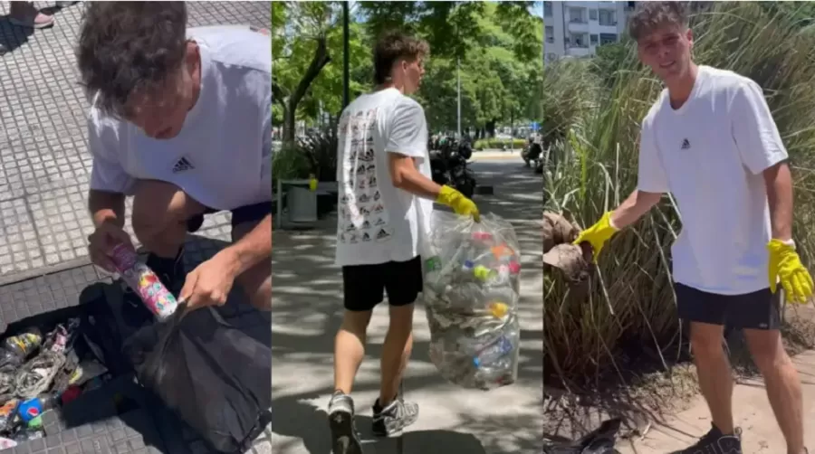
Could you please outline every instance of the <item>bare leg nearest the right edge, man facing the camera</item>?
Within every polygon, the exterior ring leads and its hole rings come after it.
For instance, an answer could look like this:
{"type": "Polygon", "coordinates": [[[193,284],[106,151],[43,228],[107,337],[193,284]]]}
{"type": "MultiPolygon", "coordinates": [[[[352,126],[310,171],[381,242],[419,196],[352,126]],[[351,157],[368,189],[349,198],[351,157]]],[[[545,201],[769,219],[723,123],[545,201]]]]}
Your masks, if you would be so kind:
{"type": "Polygon", "coordinates": [[[781,333],[777,329],[745,329],[744,337],[753,361],[764,377],[772,412],[787,440],[787,453],[806,452],[801,379],[790,355],[784,350],[781,333]]]}

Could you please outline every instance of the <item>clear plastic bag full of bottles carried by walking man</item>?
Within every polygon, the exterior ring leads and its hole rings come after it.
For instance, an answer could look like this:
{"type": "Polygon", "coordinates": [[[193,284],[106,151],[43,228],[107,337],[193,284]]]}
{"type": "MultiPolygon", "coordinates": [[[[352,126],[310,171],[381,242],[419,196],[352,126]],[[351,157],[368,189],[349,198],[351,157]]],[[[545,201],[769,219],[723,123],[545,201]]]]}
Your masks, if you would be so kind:
{"type": "Polygon", "coordinates": [[[509,222],[434,211],[422,245],[430,360],[449,382],[489,390],[514,383],[521,328],[521,257],[509,222]]]}

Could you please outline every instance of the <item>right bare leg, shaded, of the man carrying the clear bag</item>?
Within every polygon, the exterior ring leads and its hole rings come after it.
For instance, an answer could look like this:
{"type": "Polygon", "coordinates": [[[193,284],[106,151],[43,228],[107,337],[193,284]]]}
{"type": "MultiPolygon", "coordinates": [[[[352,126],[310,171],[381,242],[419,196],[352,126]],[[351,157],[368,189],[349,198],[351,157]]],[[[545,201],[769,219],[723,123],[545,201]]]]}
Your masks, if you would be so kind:
{"type": "Polygon", "coordinates": [[[382,345],[380,365],[381,383],[379,385],[379,405],[388,406],[398,393],[402,374],[413,350],[413,312],[414,305],[391,306],[388,334],[382,345]]]}

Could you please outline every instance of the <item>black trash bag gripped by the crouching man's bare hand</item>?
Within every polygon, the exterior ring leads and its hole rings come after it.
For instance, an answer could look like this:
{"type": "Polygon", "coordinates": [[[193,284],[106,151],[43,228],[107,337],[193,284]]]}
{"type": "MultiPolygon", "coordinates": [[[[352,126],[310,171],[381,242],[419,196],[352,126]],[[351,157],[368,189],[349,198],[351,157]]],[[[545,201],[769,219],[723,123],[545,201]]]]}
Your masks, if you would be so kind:
{"type": "Polygon", "coordinates": [[[220,452],[244,452],[271,421],[272,352],[202,308],[145,326],[124,345],[139,382],[220,452]]]}

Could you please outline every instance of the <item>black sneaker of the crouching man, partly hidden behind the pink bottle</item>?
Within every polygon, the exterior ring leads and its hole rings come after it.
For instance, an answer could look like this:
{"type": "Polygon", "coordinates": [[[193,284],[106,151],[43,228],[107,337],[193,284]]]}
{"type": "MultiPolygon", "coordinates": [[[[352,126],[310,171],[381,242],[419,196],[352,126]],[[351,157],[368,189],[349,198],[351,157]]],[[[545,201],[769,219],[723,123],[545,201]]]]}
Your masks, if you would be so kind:
{"type": "MultiPolygon", "coordinates": [[[[184,272],[184,248],[178,250],[173,259],[165,259],[149,253],[145,264],[158,275],[158,280],[168,288],[170,293],[177,297],[178,292],[184,287],[184,279],[187,278],[184,272]]],[[[121,307],[121,315],[124,322],[131,327],[149,325],[154,318],[150,309],[144,305],[138,293],[124,282],[122,285],[124,286],[124,304],[121,307]]]]}

